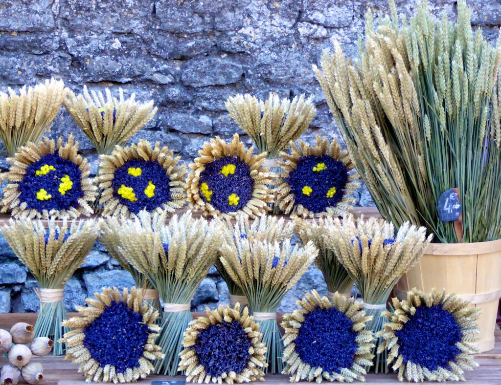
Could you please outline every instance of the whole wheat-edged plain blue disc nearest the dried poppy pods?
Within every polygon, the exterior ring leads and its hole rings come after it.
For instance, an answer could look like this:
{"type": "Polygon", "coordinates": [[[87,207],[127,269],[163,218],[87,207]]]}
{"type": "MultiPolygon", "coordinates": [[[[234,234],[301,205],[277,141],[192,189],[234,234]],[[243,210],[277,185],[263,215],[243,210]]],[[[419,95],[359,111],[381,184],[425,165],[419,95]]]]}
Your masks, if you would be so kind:
{"type": "Polygon", "coordinates": [[[71,331],[61,338],[65,359],[80,363],[86,382],[136,382],[153,371],[152,360],[163,358],[155,342],[158,312],[143,301],[141,289],[123,292],[106,287],[79,306],[80,316],[63,321],[71,331]]]}

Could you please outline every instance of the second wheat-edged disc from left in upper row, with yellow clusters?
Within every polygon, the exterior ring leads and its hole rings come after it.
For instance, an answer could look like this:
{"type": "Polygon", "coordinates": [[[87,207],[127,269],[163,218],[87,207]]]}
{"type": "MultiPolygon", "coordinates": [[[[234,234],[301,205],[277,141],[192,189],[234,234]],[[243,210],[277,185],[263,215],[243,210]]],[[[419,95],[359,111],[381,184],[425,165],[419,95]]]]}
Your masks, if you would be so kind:
{"type": "Polygon", "coordinates": [[[186,167],[167,146],[147,140],[116,146],[101,155],[96,178],[105,216],[135,216],[140,210],[173,212],[186,204],[186,167]]]}

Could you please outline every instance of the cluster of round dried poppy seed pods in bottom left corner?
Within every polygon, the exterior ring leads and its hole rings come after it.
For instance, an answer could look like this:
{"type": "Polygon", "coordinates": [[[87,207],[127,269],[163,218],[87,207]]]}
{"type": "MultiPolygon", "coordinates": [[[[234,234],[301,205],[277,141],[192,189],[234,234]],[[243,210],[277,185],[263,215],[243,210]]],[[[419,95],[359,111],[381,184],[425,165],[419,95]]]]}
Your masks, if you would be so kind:
{"type": "Polygon", "coordinates": [[[43,383],[42,364],[30,360],[49,354],[53,346],[51,339],[35,337],[35,327],[26,322],[14,324],[10,332],[0,329],[0,353],[5,353],[10,362],[2,367],[0,384],[16,385],[20,378],[32,385],[43,383]]]}

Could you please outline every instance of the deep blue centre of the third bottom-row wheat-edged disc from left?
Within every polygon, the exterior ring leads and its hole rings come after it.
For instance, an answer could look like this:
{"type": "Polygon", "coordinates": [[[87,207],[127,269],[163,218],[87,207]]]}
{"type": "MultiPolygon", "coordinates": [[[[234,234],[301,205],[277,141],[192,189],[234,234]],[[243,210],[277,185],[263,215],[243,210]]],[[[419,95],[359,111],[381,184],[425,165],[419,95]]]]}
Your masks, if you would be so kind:
{"type": "Polygon", "coordinates": [[[353,322],[335,307],[317,307],[305,314],[296,337],[296,351],[303,362],[324,371],[340,373],[351,368],[357,350],[353,322]]]}

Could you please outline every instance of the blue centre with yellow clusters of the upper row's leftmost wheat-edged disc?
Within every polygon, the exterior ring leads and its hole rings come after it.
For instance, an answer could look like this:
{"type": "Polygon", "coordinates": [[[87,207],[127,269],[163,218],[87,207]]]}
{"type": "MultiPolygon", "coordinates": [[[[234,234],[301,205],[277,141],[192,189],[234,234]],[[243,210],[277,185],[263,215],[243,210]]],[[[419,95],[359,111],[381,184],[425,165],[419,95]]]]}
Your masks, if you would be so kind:
{"type": "Polygon", "coordinates": [[[19,199],[27,209],[67,210],[78,207],[84,196],[79,166],[58,154],[47,154],[26,169],[19,182],[19,199]]]}

